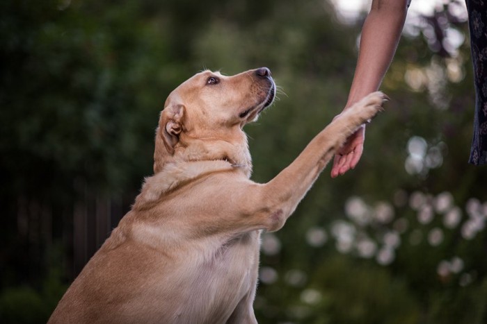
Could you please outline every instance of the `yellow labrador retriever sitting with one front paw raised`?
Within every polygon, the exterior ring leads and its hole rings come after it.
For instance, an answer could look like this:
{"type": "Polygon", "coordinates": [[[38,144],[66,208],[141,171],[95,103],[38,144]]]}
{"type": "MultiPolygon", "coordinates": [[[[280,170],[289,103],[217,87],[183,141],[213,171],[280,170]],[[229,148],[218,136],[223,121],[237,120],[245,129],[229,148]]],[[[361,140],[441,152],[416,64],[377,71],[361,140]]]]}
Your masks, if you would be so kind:
{"type": "Polygon", "coordinates": [[[49,323],[257,323],[260,232],[284,225],[326,163],[385,96],[370,94],[271,181],[249,180],[243,126],[271,105],[267,68],[196,74],[168,97],[154,176],[49,323]]]}

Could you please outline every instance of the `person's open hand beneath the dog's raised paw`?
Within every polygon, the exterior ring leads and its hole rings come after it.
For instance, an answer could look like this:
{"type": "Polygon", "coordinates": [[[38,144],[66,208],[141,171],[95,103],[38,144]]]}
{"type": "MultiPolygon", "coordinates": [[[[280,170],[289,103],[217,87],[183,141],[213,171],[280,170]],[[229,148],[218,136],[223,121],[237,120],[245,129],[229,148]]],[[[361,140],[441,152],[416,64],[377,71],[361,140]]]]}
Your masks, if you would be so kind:
{"type": "Polygon", "coordinates": [[[360,126],[358,130],[346,139],[345,144],[335,154],[331,177],[343,175],[346,171],[356,167],[358,160],[364,151],[365,125],[360,126]]]}

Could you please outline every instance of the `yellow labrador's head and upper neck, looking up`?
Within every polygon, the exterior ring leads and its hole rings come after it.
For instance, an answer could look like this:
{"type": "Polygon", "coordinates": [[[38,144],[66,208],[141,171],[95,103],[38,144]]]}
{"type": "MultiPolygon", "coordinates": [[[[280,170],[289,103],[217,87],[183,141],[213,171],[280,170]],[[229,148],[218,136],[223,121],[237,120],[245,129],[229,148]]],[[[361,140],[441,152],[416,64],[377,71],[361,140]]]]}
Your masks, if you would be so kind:
{"type": "Polygon", "coordinates": [[[223,76],[202,71],[170,93],[159,119],[154,173],[167,160],[250,163],[243,126],[271,105],[276,85],[266,67],[223,76]]]}

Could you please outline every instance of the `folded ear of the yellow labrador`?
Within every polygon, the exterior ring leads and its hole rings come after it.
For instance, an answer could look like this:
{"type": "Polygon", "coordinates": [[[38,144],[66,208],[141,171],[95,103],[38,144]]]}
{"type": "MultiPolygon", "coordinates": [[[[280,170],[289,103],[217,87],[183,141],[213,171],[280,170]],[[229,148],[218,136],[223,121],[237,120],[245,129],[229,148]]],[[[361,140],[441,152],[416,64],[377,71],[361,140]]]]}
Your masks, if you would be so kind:
{"type": "Polygon", "coordinates": [[[161,113],[159,133],[170,154],[174,154],[174,146],[179,142],[179,134],[183,130],[184,105],[170,105],[161,113]]]}

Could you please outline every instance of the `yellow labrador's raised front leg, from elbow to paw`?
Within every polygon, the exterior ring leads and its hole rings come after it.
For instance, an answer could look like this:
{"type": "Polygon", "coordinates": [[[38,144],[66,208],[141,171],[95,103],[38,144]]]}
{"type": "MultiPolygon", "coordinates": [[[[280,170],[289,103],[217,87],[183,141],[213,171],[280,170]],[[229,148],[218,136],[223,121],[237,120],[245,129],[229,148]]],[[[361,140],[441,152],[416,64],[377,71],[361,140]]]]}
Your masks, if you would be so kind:
{"type": "Polygon", "coordinates": [[[346,138],[382,110],[386,99],[381,92],[374,92],[358,101],[314,137],[289,167],[259,188],[255,206],[266,211],[258,213],[267,214],[264,229],[274,231],[284,225],[346,138]]]}

